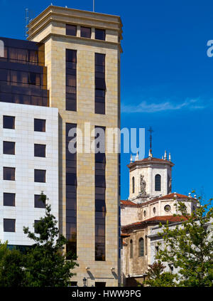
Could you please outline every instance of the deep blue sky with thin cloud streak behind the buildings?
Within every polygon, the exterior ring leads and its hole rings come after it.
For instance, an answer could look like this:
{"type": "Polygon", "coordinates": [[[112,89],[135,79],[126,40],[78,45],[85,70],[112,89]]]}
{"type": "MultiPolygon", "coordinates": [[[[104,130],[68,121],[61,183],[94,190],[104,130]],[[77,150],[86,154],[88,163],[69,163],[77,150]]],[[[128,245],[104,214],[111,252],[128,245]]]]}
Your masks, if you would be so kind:
{"type": "MultiPolygon", "coordinates": [[[[53,1],[92,10],[92,0],[53,1]]],[[[24,12],[34,16],[50,1],[0,0],[0,36],[24,38],[24,12]]],[[[121,16],[121,127],[153,130],[153,156],[167,149],[173,191],[192,189],[205,198],[212,191],[213,3],[207,0],[101,1],[96,11],[121,16]]],[[[146,132],[146,156],[148,132],[146,132]]],[[[121,154],[121,199],[129,196],[130,155],[121,154]]]]}

